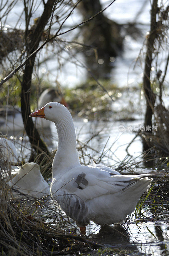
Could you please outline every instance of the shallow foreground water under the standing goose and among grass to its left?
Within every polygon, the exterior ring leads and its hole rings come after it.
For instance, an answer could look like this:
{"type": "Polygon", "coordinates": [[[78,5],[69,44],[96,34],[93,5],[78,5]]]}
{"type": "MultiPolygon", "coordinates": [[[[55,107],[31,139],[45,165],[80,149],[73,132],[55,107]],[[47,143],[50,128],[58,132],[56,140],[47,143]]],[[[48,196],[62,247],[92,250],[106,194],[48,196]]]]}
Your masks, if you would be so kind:
{"type": "MultiPolygon", "coordinates": [[[[80,234],[79,228],[67,216],[61,213],[60,218],[58,210],[53,202],[48,201],[50,208],[43,208],[33,216],[36,218],[45,218],[47,224],[52,224],[65,230],[65,234],[80,234]],[[37,214],[38,213],[38,214],[37,214]]],[[[40,208],[40,207],[39,207],[40,208]]],[[[38,207],[36,208],[37,211],[38,207]]],[[[164,211],[166,211],[164,206],[164,211]]],[[[146,207],[142,209],[145,211],[146,207]]],[[[154,220],[154,214],[151,211],[146,212],[144,218],[136,218],[131,214],[123,225],[112,225],[101,227],[91,221],[86,227],[86,236],[94,239],[98,244],[103,244],[108,248],[118,248],[128,250],[128,255],[154,255],[167,256],[169,250],[169,226],[168,220],[154,220]]],[[[68,253],[68,252],[67,252],[68,253]]]]}

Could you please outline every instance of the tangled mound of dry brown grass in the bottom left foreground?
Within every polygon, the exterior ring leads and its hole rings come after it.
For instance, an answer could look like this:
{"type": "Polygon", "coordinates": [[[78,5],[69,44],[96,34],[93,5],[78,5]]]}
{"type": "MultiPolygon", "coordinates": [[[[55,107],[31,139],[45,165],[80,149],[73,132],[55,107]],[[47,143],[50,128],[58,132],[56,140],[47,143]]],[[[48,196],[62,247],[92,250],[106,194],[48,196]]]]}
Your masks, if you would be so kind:
{"type": "Polygon", "coordinates": [[[1,164],[0,255],[61,255],[68,250],[71,253],[101,246],[91,238],[69,233],[65,226],[69,221],[51,206],[52,199],[22,194],[23,198],[18,201],[12,192],[19,191],[10,188],[3,178],[4,172],[9,174],[6,167],[1,164]],[[53,222],[60,220],[59,225],[46,222],[46,218],[53,222]]]}

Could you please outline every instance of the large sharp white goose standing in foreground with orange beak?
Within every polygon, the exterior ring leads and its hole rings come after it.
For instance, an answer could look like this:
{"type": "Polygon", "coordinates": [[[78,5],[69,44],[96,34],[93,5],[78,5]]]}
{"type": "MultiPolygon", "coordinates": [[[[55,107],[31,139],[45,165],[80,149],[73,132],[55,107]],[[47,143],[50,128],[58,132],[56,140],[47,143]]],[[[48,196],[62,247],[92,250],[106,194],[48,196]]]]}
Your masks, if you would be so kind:
{"type": "Polygon", "coordinates": [[[51,195],[80,227],[120,222],[133,212],[152,179],[143,175],[121,175],[100,164],[82,166],[76,150],[73,119],[66,107],[50,102],[30,114],[55,123],[58,149],[53,159],[51,195]]]}

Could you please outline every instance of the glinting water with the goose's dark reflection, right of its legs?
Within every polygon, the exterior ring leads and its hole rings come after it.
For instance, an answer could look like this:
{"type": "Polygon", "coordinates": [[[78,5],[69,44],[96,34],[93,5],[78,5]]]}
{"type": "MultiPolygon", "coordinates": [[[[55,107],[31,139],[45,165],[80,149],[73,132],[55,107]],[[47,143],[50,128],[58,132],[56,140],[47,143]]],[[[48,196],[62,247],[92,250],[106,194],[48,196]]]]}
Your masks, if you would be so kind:
{"type": "Polygon", "coordinates": [[[90,236],[97,243],[102,243],[108,247],[134,251],[136,254],[168,255],[167,246],[169,245],[169,240],[165,223],[156,225],[153,222],[141,222],[139,225],[128,224],[124,227],[120,224],[114,226],[104,225],[99,232],[97,231],[95,235],[90,236]],[[154,230],[156,233],[154,233],[154,230]]]}

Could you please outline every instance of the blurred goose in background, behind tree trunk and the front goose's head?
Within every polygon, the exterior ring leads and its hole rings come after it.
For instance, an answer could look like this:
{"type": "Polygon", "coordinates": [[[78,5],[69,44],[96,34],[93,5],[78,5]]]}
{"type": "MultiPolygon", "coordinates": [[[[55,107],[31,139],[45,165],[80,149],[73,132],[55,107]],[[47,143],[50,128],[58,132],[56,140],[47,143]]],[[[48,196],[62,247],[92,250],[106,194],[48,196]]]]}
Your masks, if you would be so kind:
{"type": "MultiPolygon", "coordinates": [[[[39,97],[38,108],[42,108],[49,101],[60,102],[61,104],[68,106],[60,87],[46,89],[39,97]]],[[[47,120],[39,120],[36,123],[37,128],[47,128],[50,126],[50,122],[47,120]]],[[[24,123],[21,115],[21,110],[13,106],[1,106],[0,107],[0,130],[1,131],[20,131],[24,129],[24,123]]]]}

